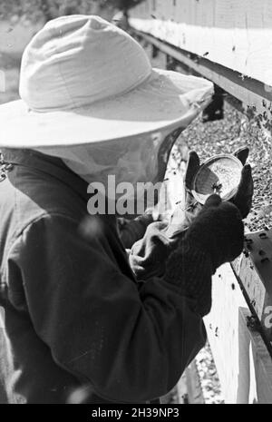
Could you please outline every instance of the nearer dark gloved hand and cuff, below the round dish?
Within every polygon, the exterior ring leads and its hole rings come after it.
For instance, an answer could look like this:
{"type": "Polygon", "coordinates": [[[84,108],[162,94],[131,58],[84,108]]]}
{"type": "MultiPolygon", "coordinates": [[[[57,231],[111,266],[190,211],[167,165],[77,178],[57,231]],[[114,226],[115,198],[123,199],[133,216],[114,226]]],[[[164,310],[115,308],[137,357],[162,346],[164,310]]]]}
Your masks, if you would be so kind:
{"type": "Polygon", "coordinates": [[[195,299],[194,310],[211,307],[211,275],[243,250],[244,226],[238,208],[211,195],[167,261],[165,280],[182,296],[195,299]]]}

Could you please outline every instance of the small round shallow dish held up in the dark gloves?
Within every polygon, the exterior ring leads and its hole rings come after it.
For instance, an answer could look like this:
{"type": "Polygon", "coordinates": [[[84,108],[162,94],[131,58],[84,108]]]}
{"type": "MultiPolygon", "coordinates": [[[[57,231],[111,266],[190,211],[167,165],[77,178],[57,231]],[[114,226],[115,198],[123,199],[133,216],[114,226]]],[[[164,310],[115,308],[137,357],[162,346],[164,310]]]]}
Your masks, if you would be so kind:
{"type": "Polygon", "coordinates": [[[193,180],[192,194],[202,204],[213,193],[217,193],[222,201],[228,201],[238,191],[242,169],[242,163],[234,155],[214,155],[199,167],[193,180]]]}

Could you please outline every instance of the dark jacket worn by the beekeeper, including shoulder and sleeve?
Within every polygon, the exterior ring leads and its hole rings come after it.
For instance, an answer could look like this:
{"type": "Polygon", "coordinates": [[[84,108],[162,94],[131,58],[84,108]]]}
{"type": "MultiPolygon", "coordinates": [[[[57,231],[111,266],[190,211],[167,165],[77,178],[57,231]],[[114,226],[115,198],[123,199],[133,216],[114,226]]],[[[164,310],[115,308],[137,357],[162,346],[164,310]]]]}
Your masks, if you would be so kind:
{"type": "Polygon", "coordinates": [[[156,274],[136,280],[115,216],[90,220],[87,183],[61,160],[4,157],[14,168],[0,182],[2,401],[166,394],[205,343],[191,300],[156,274]]]}

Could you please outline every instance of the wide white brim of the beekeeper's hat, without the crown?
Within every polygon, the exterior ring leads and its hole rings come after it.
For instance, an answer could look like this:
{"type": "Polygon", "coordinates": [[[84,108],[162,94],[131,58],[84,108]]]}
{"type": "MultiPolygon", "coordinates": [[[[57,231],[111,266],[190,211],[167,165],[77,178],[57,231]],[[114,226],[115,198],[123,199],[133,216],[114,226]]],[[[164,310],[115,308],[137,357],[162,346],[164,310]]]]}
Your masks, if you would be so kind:
{"type": "Polygon", "coordinates": [[[0,147],[52,149],[185,128],[212,94],[205,79],[153,69],[130,92],[81,108],[37,113],[17,100],[0,106],[0,147]]]}

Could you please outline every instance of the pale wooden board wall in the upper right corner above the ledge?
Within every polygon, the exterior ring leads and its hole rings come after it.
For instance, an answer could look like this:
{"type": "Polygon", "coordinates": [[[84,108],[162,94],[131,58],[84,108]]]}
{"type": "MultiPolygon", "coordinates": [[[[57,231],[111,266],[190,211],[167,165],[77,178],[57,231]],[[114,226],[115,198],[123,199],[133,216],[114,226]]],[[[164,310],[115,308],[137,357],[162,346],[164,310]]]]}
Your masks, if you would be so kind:
{"type": "Polygon", "coordinates": [[[135,29],[272,86],[270,0],[144,3],[131,11],[135,29]]]}

